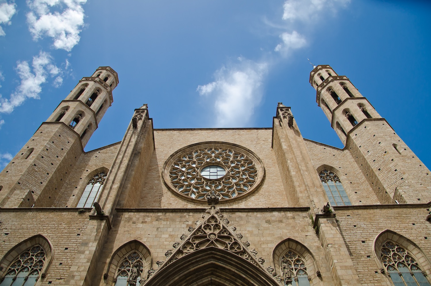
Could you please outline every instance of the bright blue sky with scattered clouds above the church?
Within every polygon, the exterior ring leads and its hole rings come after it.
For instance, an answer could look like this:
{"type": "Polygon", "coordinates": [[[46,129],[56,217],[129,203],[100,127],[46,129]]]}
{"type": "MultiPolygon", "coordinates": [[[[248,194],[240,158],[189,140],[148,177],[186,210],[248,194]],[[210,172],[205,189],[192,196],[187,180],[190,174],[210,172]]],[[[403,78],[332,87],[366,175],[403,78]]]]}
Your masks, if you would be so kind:
{"type": "Polygon", "coordinates": [[[122,140],[144,103],[155,128],[203,128],[271,127],[281,101],[304,138],[342,147],[307,58],[347,75],[430,167],[430,12],[426,1],[0,0],[0,170],[98,66],[120,83],[86,151],[122,140]]]}

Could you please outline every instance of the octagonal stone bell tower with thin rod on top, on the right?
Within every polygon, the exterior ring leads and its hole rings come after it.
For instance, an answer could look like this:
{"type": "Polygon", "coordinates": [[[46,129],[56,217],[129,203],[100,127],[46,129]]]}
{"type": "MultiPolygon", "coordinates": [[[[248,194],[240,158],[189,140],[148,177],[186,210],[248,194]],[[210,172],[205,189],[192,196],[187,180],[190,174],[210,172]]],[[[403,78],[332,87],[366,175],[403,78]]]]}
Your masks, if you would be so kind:
{"type": "Polygon", "coordinates": [[[319,65],[310,73],[316,102],[382,204],[431,200],[427,167],[344,75],[319,65]]]}

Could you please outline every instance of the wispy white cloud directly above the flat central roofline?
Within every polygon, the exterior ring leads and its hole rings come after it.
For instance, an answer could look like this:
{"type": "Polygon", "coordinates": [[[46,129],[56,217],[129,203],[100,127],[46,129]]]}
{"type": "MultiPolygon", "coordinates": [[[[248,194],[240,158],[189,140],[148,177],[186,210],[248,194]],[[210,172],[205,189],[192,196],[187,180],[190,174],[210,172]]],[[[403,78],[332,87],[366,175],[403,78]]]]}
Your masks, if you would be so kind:
{"type": "Polygon", "coordinates": [[[214,127],[244,127],[262,99],[262,84],[269,63],[240,59],[215,72],[215,81],[199,85],[197,91],[215,110],[214,127]]]}

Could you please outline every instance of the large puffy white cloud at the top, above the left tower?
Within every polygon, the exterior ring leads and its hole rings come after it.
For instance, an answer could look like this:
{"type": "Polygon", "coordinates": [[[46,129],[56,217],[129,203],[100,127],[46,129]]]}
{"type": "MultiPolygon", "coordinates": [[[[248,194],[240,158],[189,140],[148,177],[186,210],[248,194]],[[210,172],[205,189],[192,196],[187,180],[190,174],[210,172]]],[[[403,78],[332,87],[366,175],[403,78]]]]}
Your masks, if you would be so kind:
{"type": "Polygon", "coordinates": [[[33,10],[27,14],[28,29],[36,41],[43,36],[53,38],[56,49],[66,51],[78,44],[79,33],[84,25],[84,9],[82,4],[87,0],[33,0],[28,6],[33,10]],[[50,12],[51,7],[66,8],[59,13],[50,12]]]}

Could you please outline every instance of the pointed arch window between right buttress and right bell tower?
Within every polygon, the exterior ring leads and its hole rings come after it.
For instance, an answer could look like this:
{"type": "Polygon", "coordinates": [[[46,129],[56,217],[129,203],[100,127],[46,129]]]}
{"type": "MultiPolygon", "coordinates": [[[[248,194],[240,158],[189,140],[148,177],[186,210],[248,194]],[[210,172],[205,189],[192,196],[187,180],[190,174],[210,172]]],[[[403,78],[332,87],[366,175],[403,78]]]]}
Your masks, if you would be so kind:
{"type": "Polygon", "coordinates": [[[322,181],[323,189],[325,189],[328,196],[329,203],[337,206],[350,206],[349,197],[343,187],[343,184],[338,178],[337,174],[328,169],[323,169],[319,173],[320,180],[322,181]]]}

